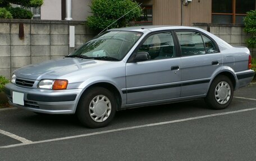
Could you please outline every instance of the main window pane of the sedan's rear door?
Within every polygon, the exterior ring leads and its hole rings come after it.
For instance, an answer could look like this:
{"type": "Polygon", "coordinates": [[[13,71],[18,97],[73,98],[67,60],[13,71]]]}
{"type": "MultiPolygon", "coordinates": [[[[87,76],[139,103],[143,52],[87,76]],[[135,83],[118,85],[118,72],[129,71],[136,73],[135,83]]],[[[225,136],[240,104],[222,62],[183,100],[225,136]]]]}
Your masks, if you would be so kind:
{"type": "Polygon", "coordinates": [[[204,43],[200,33],[195,31],[176,31],[176,34],[180,42],[182,56],[205,54],[204,43]]]}

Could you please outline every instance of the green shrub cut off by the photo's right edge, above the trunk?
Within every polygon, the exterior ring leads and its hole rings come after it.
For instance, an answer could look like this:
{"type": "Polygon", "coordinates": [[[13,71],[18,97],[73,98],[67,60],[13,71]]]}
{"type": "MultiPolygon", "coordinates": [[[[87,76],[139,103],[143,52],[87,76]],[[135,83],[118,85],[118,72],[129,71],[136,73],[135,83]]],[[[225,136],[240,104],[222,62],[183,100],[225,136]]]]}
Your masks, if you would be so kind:
{"type": "Polygon", "coordinates": [[[252,10],[246,12],[247,15],[244,18],[244,31],[248,34],[252,34],[252,38],[249,38],[246,43],[250,48],[256,48],[256,11],[252,10]]]}

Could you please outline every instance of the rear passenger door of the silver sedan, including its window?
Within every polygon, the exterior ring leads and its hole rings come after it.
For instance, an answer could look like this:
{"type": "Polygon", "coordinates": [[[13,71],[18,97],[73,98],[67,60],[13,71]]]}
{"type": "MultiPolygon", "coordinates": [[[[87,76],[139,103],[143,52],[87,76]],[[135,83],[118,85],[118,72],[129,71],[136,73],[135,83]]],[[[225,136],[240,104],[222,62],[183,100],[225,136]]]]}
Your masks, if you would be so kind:
{"type": "Polygon", "coordinates": [[[222,56],[216,43],[198,31],[176,31],[181,50],[181,97],[207,93],[222,56]]]}

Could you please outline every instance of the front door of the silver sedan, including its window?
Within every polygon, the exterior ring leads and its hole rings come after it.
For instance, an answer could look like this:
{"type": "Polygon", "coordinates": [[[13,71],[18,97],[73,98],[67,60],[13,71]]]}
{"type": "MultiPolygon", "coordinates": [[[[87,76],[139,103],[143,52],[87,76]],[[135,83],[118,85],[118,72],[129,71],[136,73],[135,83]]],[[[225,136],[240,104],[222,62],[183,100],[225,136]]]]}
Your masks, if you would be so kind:
{"type": "Polygon", "coordinates": [[[126,64],[127,104],[143,103],[180,96],[181,59],[173,33],[154,33],[144,39],[134,54],[148,52],[148,61],[126,64]]]}

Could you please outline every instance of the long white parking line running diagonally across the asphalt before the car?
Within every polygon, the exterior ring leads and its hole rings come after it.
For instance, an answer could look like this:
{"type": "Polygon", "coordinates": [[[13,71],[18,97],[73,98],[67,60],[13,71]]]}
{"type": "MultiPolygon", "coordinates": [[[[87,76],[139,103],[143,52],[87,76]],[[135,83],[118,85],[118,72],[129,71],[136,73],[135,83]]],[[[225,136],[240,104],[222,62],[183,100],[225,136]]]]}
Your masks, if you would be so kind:
{"type": "Polygon", "coordinates": [[[43,142],[52,142],[52,141],[60,141],[60,140],[67,140],[67,139],[75,139],[78,137],[86,137],[86,136],[93,136],[93,135],[100,135],[100,134],[107,134],[110,132],[117,132],[117,131],[125,131],[125,130],[131,130],[135,128],[143,128],[143,127],[150,127],[150,126],[158,126],[158,125],[166,125],[166,124],[171,124],[171,123],[176,123],[176,122],[184,122],[184,121],[190,121],[194,119],[200,119],[200,118],[208,118],[208,117],[215,117],[215,116],[223,116],[226,114],[232,114],[232,113],[239,113],[239,112],[246,112],[246,111],[253,111],[256,108],[248,108],[248,109],[241,109],[238,111],[230,111],[230,112],[223,112],[223,113],[214,113],[214,114],[208,114],[204,116],[198,116],[198,117],[190,117],[190,118],[184,118],[184,119],[176,119],[173,121],[166,121],[166,122],[158,122],[158,123],[150,123],[146,125],[140,125],[140,126],[131,126],[131,127],[124,127],[124,128],[117,128],[113,130],[107,130],[107,131],[99,131],[99,132],[93,132],[89,134],[83,134],[83,135],[76,135],[76,136],[67,136],[67,137],[60,137],[56,139],[49,139],[49,140],[42,140],[42,141],[34,141],[34,142],[23,142],[21,144],[13,144],[13,145],[7,145],[7,146],[0,146],[0,148],[12,148],[12,147],[17,147],[17,146],[22,146],[22,145],[31,145],[31,144],[39,144],[43,142]]]}

